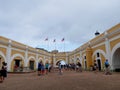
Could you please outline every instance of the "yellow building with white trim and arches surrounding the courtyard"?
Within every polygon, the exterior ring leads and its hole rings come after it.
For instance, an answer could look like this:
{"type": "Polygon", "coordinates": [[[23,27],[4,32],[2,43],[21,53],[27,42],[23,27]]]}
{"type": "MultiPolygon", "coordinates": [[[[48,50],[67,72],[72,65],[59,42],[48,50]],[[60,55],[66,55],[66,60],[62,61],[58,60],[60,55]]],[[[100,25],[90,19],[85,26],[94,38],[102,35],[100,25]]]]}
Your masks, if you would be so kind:
{"type": "Polygon", "coordinates": [[[57,66],[61,60],[66,63],[80,61],[84,69],[90,69],[96,60],[99,70],[102,70],[105,59],[109,60],[112,70],[120,70],[120,24],[71,52],[47,52],[0,36],[0,67],[3,61],[7,62],[10,72],[14,71],[15,65],[36,70],[41,60],[44,64],[49,62],[53,66],[57,66]]]}

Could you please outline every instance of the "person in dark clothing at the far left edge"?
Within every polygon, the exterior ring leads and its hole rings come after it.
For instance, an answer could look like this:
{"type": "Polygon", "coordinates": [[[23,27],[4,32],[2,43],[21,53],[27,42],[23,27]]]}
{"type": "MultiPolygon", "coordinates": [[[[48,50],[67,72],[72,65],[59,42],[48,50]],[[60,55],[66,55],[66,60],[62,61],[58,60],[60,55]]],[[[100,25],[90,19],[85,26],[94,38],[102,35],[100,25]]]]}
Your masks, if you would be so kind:
{"type": "Polygon", "coordinates": [[[0,83],[4,81],[4,79],[7,77],[7,63],[2,63],[2,68],[0,69],[0,83]]]}

